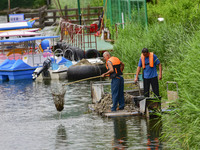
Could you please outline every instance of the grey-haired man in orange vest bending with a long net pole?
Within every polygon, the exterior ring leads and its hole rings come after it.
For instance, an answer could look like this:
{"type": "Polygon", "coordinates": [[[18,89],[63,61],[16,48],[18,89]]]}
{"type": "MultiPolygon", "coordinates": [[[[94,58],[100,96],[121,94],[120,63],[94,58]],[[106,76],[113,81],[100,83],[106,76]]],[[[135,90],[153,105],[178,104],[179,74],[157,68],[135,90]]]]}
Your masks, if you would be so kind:
{"type": "Polygon", "coordinates": [[[107,72],[103,73],[101,76],[105,77],[109,75],[112,79],[111,81],[111,92],[112,92],[112,102],[113,106],[111,111],[117,110],[117,105],[119,103],[119,110],[123,110],[124,103],[124,78],[121,76],[124,70],[124,63],[117,57],[111,57],[109,52],[103,53],[103,58],[106,60],[107,72]]]}

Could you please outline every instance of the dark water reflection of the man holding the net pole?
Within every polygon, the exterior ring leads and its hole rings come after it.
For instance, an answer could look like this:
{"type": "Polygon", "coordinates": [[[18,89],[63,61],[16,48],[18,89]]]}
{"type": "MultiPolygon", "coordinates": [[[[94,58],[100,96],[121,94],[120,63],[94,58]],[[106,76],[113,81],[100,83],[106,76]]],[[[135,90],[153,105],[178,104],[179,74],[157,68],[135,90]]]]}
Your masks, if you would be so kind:
{"type": "Polygon", "coordinates": [[[127,148],[127,125],[125,118],[114,118],[114,143],[113,149],[124,149],[127,148]]]}

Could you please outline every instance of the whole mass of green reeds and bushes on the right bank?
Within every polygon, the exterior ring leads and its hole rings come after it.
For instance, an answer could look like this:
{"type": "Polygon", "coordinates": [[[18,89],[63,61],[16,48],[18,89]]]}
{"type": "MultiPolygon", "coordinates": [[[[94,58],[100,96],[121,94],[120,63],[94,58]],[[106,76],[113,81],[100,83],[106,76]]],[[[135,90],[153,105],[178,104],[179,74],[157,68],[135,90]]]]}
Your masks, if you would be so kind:
{"type": "Polygon", "coordinates": [[[147,47],[158,56],[163,65],[162,101],[167,100],[166,82],[178,83],[175,109],[162,115],[163,139],[169,149],[200,147],[199,4],[199,0],[149,3],[148,30],[130,22],[115,39],[114,55],[126,64],[127,72],[136,72],[142,48],[147,47]],[[158,17],[165,21],[158,22],[158,17]]]}

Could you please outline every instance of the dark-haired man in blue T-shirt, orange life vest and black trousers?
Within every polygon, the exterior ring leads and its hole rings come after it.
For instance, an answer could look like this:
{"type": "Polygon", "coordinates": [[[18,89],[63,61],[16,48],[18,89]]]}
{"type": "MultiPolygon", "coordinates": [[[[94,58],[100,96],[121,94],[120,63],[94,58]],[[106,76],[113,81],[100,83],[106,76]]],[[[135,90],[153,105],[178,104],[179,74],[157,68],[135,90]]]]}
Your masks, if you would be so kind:
{"type": "Polygon", "coordinates": [[[138,75],[141,67],[143,68],[143,83],[144,83],[144,96],[149,97],[150,84],[152,86],[154,95],[159,97],[159,80],[162,79],[162,66],[157,56],[149,52],[147,48],[142,49],[142,54],[138,63],[135,82],[138,81],[138,75]],[[156,66],[159,66],[159,77],[157,74],[156,66]]]}

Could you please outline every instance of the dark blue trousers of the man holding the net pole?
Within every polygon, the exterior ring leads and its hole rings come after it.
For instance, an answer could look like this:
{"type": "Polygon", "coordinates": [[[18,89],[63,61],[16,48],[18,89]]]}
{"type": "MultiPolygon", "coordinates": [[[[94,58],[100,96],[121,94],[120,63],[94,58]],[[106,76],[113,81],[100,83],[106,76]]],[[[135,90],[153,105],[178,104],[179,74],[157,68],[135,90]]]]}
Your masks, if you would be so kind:
{"type": "Polygon", "coordinates": [[[112,111],[116,111],[117,104],[119,103],[119,109],[124,108],[124,78],[119,76],[113,78],[111,81],[111,92],[112,92],[112,111]]]}

